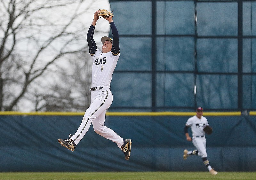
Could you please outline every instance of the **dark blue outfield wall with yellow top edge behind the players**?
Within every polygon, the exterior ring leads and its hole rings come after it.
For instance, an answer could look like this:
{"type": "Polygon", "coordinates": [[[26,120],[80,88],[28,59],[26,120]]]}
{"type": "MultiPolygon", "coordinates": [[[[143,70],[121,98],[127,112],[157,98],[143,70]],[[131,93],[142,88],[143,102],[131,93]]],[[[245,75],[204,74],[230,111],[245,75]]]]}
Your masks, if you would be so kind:
{"type": "MultiPolygon", "coordinates": [[[[79,127],[83,113],[0,113],[0,171],[206,171],[183,129],[195,113],[108,113],[105,124],[132,139],[130,160],[91,127],[74,152],[57,139],[79,127]]],[[[217,171],[256,171],[255,112],[204,113],[208,159],[217,171]]],[[[189,129],[190,130],[190,129],[189,129]]],[[[191,135],[191,131],[190,131],[191,135]]]]}

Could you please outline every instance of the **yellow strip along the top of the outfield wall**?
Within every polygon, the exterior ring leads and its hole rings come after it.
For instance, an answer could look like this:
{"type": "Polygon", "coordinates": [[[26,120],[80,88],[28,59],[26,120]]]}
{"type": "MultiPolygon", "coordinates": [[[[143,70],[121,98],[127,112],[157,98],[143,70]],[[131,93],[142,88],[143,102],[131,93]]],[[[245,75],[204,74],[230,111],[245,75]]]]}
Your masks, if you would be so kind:
{"type": "MultiPolygon", "coordinates": [[[[193,116],[196,112],[106,112],[108,116],[193,116]]],[[[15,112],[1,111],[0,115],[38,115],[38,116],[84,116],[84,112],[15,112]]],[[[241,112],[204,112],[204,116],[241,116],[241,112]]],[[[256,112],[250,112],[256,115],[256,112]]]]}

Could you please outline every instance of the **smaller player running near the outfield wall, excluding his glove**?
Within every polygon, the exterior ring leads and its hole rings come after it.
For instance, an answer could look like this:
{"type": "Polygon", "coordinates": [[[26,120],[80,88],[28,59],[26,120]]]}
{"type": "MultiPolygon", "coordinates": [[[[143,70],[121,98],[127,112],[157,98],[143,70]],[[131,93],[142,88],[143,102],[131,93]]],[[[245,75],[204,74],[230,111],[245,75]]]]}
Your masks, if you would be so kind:
{"type": "Polygon", "coordinates": [[[183,159],[186,160],[189,155],[197,155],[201,156],[204,162],[204,165],[207,167],[209,172],[212,175],[218,174],[217,171],[215,171],[209,163],[209,160],[207,159],[207,153],[206,153],[206,140],[205,140],[205,132],[204,127],[208,124],[207,119],[203,116],[203,108],[198,107],[196,109],[196,115],[189,118],[186,122],[184,132],[187,138],[187,141],[192,141],[193,145],[196,147],[193,151],[188,151],[187,149],[184,150],[183,159]],[[188,128],[191,127],[192,135],[191,138],[188,134],[188,128]]]}

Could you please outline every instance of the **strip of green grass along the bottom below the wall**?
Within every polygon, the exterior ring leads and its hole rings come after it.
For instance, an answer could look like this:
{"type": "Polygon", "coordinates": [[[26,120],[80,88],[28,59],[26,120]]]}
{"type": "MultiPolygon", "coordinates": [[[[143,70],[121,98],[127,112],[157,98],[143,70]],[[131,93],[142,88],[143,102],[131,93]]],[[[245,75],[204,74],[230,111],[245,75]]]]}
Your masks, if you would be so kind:
{"type": "Polygon", "coordinates": [[[209,172],[6,172],[0,179],[92,179],[92,180],[199,180],[199,179],[256,179],[256,172],[219,172],[216,176],[209,172]]]}

